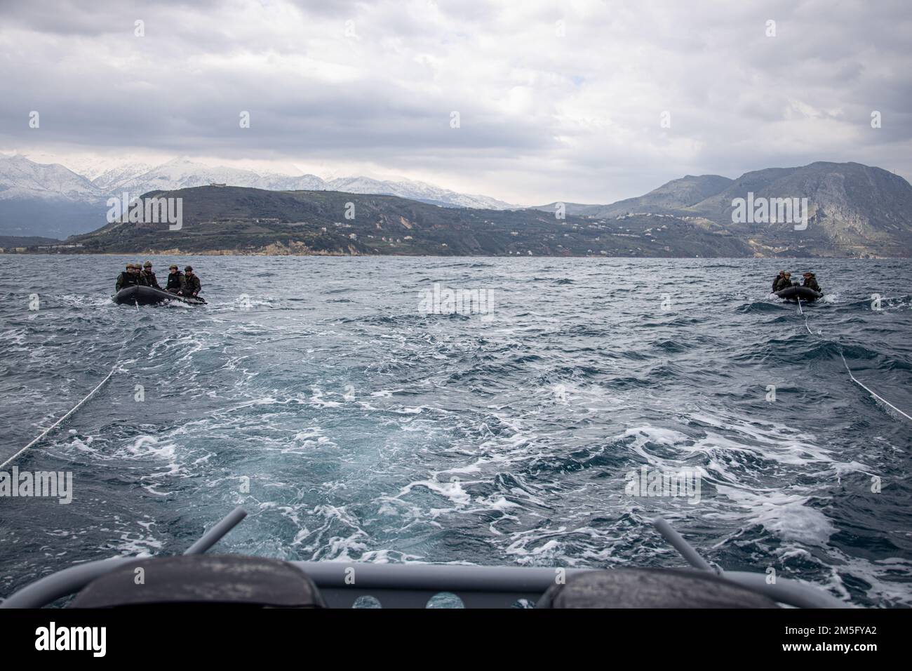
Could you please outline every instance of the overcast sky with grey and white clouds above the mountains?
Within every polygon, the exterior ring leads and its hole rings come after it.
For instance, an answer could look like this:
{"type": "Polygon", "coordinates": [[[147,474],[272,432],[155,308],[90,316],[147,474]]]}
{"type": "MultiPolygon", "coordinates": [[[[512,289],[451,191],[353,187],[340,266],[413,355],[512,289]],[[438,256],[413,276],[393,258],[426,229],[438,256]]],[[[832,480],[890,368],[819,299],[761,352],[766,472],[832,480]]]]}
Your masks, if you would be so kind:
{"type": "Polygon", "coordinates": [[[516,204],[814,161],[912,180],[910,36],[908,0],[2,0],[0,150],[516,204]]]}

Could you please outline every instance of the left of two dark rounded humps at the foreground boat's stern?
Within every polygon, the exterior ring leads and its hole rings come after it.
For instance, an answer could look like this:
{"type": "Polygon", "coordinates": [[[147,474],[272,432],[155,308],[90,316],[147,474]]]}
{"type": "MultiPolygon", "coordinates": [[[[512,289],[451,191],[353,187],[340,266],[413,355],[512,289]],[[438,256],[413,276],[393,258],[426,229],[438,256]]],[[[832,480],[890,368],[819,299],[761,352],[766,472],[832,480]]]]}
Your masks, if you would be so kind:
{"type": "Polygon", "coordinates": [[[184,554],[130,561],[89,582],[74,608],[156,604],[326,608],[316,584],[287,561],[184,554]]]}

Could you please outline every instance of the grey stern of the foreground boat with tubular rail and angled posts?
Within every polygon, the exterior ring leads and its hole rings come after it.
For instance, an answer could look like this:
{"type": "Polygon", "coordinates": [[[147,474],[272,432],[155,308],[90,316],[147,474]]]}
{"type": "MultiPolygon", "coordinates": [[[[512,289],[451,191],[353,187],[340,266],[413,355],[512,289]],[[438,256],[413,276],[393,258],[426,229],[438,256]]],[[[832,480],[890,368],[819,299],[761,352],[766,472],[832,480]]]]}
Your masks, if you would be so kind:
{"type": "Polygon", "coordinates": [[[810,584],[787,578],[771,583],[765,573],[710,566],[664,519],[655,520],[656,529],[692,569],[279,561],[204,554],[245,515],[243,508],[234,509],[183,554],[74,564],[26,585],[0,602],[0,609],[39,608],[70,594],[77,594],[68,604],[73,608],[425,608],[440,597],[455,597],[459,604],[451,607],[457,608],[851,607],[810,584]],[[140,569],[155,580],[137,590],[134,580],[140,569]]]}

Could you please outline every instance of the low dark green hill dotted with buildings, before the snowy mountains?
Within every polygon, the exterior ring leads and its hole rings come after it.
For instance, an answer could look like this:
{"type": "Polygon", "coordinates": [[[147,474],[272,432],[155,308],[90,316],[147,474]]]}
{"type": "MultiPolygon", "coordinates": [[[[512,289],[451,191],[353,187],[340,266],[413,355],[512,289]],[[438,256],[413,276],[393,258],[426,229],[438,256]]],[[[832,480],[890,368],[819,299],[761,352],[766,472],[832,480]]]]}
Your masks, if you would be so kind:
{"type": "Polygon", "coordinates": [[[748,246],[671,216],[560,221],[535,210],[438,207],[396,196],[202,186],[183,199],[181,230],[115,223],[73,236],[82,252],[187,254],[738,257],[748,246]],[[348,204],[353,204],[352,210],[348,204]],[[354,214],[353,219],[346,217],[354,214]]]}

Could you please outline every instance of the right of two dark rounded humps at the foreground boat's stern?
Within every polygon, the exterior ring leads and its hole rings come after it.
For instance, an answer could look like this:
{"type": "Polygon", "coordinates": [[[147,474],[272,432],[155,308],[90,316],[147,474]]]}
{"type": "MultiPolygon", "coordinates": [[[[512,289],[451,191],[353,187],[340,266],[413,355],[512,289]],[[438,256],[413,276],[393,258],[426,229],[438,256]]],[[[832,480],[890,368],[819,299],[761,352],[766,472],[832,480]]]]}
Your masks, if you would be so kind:
{"type": "Polygon", "coordinates": [[[708,571],[586,571],[548,588],[536,608],[778,608],[762,594],[708,571]]]}

